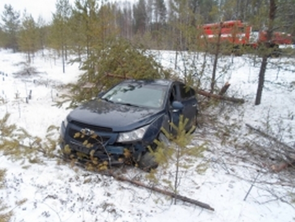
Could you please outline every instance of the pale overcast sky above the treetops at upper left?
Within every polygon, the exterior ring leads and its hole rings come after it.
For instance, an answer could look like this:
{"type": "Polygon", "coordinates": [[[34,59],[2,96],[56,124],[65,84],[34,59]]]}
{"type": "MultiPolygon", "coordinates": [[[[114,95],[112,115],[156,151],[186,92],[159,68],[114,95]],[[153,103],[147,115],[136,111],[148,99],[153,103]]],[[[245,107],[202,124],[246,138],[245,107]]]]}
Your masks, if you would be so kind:
{"type": "MultiPolygon", "coordinates": [[[[73,5],[75,0],[69,0],[73,5]]],[[[28,14],[31,14],[35,20],[38,21],[38,17],[42,16],[47,22],[51,21],[52,13],[56,10],[57,0],[0,0],[0,14],[3,14],[4,5],[11,4],[14,10],[21,13],[23,16],[24,10],[27,10],[28,14]]]]}

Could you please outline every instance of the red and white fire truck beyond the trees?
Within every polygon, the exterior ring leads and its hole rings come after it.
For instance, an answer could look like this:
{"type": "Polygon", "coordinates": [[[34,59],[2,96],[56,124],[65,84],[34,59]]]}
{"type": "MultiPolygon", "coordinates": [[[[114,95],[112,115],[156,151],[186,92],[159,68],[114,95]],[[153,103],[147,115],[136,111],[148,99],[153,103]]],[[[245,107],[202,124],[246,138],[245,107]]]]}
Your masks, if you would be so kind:
{"type": "MultiPolygon", "coordinates": [[[[220,42],[228,42],[236,46],[249,45],[256,48],[267,39],[265,31],[253,32],[250,25],[240,20],[205,24],[199,26],[199,30],[201,39],[207,42],[216,42],[220,34],[220,42]]],[[[292,44],[292,36],[284,32],[273,32],[270,43],[273,47],[292,44]]]]}

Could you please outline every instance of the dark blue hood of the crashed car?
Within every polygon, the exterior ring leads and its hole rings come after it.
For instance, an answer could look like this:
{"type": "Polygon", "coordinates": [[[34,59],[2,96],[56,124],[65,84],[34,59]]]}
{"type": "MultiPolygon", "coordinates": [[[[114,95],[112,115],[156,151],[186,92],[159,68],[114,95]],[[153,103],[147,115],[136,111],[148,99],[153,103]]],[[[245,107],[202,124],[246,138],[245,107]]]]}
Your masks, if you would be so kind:
{"type": "Polygon", "coordinates": [[[110,127],[113,131],[130,131],[151,123],[163,113],[162,109],[135,107],[96,99],[70,112],[68,121],[110,127]]]}

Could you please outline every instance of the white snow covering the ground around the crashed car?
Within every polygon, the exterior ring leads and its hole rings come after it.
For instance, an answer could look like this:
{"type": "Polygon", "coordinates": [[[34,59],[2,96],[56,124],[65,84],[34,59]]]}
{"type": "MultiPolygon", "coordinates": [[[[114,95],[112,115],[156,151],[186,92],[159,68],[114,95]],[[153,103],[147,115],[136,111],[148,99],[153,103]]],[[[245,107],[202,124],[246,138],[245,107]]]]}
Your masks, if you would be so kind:
{"type": "MultiPolygon", "coordinates": [[[[174,52],[156,53],[162,64],[174,67],[174,52]]],[[[0,75],[0,97],[5,100],[0,105],[0,118],[8,112],[11,114],[10,124],[17,124],[30,134],[44,138],[47,127],[59,126],[69,112],[65,107],[53,106],[63,93],[60,86],[75,82],[82,72],[79,64],[74,63],[67,64],[66,72],[62,73],[61,60],[46,51],[45,56],[40,52],[31,64],[37,74],[20,76],[17,73],[28,69],[25,61],[24,54],[0,50],[0,71],[4,73],[0,75]],[[32,98],[26,103],[30,90],[32,98]]],[[[229,95],[246,100],[245,104],[226,113],[231,115],[227,124],[230,125],[235,120],[240,120],[239,124],[248,123],[256,127],[265,127],[268,124],[273,127],[274,135],[280,133],[282,141],[293,146],[294,62],[295,59],[270,59],[262,104],[255,106],[259,63],[253,65],[253,60],[247,56],[225,57],[221,60],[223,64],[229,63],[230,68],[218,79],[218,84],[229,81],[229,95]],[[284,64],[278,71],[279,62],[289,64],[284,64]]],[[[226,114],[216,115],[216,118],[220,117],[222,120],[226,114]]],[[[245,133],[245,126],[240,127],[242,135],[245,133]]],[[[177,201],[174,205],[171,199],[162,194],[77,166],[72,167],[57,159],[44,157],[42,164],[29,164],[23,160],[9,159],[2,154],[0,168],[7,171],[6,186],[0,190],[1,200],[8,206],[6,211],[13,212],[12,222],[294,221],[294,204],[290,204],[288,198],[291,192],[294,193],[294,186],[275,184],[280,177],[279,173],[275,174],[267,169],[258,171],[257,166],[251,162],[236,161],[224,156],[223,150],[234,149],[220,143],[211,133],[213,129],[206,126],[204,128],[196,130],[192,143],[202,144],[209,139],[210,144],[214,144],[205,153],[205,159],[208,160],[207,171],[198,174],[193,169],[182,170],[179,193],[209,204],[215,209],[214,212],[182,201],[177,201]],[[269,184],[254,183],[256,177],[258,181],[267,181],[269,184]],[[274,183],[270,184],[271,182],[274,183]],[[24,203],[17,204],[20,201],[24,203]]],[[[123,175],[148,183],[146,173],[137,168],[128,167],[123,175]]],[[[171,179],[169,173],[161,177],[171,179]]]]}

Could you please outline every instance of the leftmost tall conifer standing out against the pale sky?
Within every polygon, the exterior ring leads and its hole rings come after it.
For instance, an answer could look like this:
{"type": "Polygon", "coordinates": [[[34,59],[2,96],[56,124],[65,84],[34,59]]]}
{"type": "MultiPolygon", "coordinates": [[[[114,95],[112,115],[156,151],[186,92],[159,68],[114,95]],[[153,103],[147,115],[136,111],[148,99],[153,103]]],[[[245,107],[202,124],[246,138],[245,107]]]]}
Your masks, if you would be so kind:
{"type": "Polygon", "coordinates": [[[6,35],[5,47],[16,52],[18,50],[17,34],[20,28],[20,13],[15,11],[10,4],[5,4],[4,9],[1,18],[4,22],[2,30],[6,35]]]}

